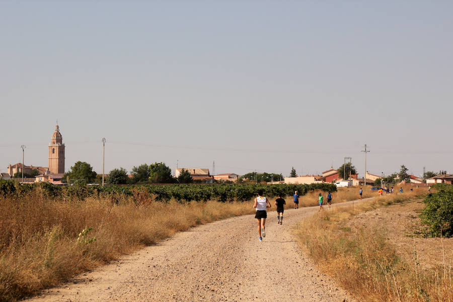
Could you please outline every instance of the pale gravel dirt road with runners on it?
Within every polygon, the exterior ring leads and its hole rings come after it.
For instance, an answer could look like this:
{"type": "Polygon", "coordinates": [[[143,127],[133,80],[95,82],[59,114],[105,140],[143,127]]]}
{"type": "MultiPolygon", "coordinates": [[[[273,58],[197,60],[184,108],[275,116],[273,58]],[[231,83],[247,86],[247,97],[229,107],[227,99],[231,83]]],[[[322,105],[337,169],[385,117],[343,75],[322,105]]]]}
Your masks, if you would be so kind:
{"type": "Polygon", "coordinates": [[[253,215],[197,226],[29,301],[353,301],[291,235],[315,211],[286,210],[278,225],[273,206],[263,242],[253,215]]]}

